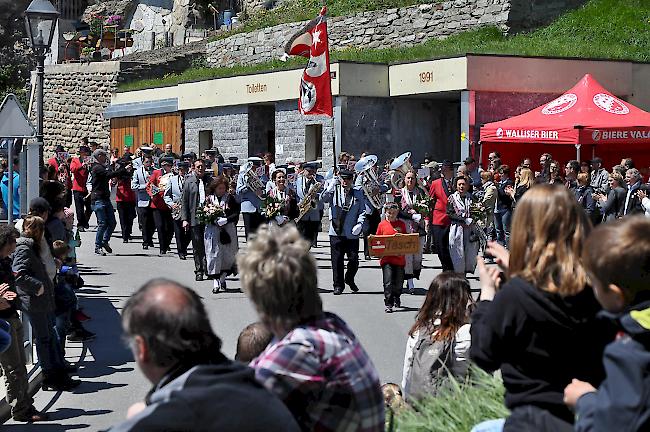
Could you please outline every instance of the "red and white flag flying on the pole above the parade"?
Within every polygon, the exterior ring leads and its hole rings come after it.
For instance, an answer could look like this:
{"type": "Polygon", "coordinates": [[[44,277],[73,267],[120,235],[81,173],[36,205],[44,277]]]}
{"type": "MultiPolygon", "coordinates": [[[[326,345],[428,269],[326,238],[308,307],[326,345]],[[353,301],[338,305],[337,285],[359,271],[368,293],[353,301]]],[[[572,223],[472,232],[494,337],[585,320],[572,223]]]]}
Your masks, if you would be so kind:
{"type": "Polygon", "coordinates": [[[309,58],[300,79],[298,109],[303,115],[323,114],[332,117],[332,82],[327,41],[327,7],[289,39],[283,59],[289,56],[309,58]]]}

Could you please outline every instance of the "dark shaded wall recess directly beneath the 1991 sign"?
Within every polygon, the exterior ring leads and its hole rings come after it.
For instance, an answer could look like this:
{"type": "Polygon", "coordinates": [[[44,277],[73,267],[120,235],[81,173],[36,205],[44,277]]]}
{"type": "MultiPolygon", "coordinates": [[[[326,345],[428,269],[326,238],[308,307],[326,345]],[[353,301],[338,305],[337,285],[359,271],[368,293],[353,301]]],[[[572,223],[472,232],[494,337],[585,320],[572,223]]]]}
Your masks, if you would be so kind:
{"type": "Polygon", "coordinates": [[[341,149],[384,161],[410,151],[415,162],[460,155],[458,100],[345,98],[341,149]]]}

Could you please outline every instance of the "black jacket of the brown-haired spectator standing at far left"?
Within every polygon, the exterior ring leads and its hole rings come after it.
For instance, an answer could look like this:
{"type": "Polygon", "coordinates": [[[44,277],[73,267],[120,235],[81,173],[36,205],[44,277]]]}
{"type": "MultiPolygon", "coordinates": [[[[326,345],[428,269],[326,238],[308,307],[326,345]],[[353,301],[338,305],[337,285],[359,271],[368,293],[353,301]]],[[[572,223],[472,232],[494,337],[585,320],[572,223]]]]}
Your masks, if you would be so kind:
{"type": "Polygon", "coordinates": [[[51,312],[54,310],[54,286],[47,275],[45,265],[34,249],[34,240],[20,237],[16,240],[16,251],[12,255],[12,268],[16,275],[16,292],[21,308],[27,313],[51,312]],[[36,293],[43,286],[45,292],[36,293]]]}

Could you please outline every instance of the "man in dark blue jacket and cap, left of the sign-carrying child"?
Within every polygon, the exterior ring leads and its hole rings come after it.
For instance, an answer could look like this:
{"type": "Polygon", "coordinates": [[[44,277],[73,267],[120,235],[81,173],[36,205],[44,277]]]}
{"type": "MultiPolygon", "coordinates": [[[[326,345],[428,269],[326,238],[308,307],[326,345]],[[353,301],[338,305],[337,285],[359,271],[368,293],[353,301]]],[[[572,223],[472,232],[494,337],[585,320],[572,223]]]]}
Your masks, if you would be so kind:
{"type": "Polygon", "coordinates": [[[359,269],[359,236],[367,215],[372,211],[361,189],[353,188],[354,172],[340,170],[340,183],[332,179],[321,194],[321,201],[330,205],[330,248],[334,295],[340,295],[345,284],[353,292],[359,291],[354,276],[359,269]],[[344,276],[344,255],[348,257],[348,267],[344,276]]]}

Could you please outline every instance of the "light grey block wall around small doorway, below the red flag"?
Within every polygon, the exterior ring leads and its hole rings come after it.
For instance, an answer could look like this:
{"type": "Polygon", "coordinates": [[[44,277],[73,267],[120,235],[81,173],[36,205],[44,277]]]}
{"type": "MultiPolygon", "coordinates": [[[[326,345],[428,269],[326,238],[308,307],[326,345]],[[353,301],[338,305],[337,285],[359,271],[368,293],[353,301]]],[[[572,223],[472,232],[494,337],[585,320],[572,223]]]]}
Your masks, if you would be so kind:
{"type": "Polygon", "coordinates": [[[323,125],[323,166],[333,163],[334,127],[332,119],[326,116],[303,116],[298,111],[297,101],[283,101],[275,104],[275,159],[284,163],[287,158],[305,159],[305,126],[323,125]]]}

